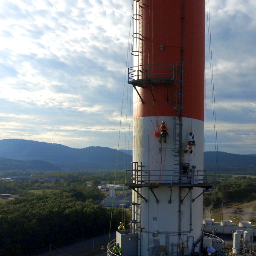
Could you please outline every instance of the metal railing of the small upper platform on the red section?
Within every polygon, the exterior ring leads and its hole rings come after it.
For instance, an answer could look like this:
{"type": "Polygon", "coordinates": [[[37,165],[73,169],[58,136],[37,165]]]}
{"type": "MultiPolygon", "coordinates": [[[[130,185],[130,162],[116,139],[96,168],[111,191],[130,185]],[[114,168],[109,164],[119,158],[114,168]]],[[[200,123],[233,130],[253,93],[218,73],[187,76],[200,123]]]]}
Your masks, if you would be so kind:
{"type": "Polygon", "coordinates": [[[147,64],[128,68],[128,83],[145,79],[175,80],[174,64],[147,64]]]}

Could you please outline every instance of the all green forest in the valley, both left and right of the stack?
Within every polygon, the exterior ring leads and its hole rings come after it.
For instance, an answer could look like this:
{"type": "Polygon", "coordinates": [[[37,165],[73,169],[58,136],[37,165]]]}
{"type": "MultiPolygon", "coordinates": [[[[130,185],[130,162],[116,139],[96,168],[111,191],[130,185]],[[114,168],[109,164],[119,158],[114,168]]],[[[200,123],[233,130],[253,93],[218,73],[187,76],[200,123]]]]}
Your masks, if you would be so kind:
{"type": "MultiPolygon", "coordinates": [[[[130,221],[129,211],[94,204],[104,198],[96,186],[123,184],[122,171],[0,173],[0,177],[18,175],[26,177],[12,182],[0,179],[0,193],[16,195],[15,199],[1,199],[0,255],[28,255],[49,250],[50,244],[60,247],[74,239],[102,235],[104,230],[106,233],[116,230],[120,220],[125,220],[126,225],[130,221]],[[50,183],[42,181],[50,177],[55,179],[50,183]],[[87,186],[89,184],[91,186],[87,186]],[[41,194],[31,192],[41,189],[41,194]]],[[[256,178],[220,175],[213,190],[205,192],[204,207],[217,208],[221,204],[252,200],[256,200],[256,178]]]]}

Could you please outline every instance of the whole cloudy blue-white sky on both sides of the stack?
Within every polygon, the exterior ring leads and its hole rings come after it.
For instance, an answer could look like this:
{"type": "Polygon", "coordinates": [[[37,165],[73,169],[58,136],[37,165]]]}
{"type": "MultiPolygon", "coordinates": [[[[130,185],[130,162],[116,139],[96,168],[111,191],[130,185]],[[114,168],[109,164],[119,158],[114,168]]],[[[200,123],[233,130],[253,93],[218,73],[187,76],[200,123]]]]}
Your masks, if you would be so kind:
{"type": "MultiPolygon", "coordinates": [[[[0,140],[131,149],[131,2],[0,1],[0,140]]],[[[256,154],[256,0],[209,2],[218,150],[256,154]]],[[[205,74],[214,151],[208,32],[205,74]]]]}

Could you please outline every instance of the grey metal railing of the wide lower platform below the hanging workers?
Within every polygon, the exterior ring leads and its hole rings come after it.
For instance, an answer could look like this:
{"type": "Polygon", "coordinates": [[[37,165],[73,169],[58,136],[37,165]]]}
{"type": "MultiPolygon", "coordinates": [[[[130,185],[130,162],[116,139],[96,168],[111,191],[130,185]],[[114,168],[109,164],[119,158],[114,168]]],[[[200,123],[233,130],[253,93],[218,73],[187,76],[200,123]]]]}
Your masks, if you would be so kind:
{"type": "Polygon", "coordinates": [[[158,184],[210,186],[215,184],[215,171],[126,170],[125,183],[127,186],[141,187],[158,184]]]}

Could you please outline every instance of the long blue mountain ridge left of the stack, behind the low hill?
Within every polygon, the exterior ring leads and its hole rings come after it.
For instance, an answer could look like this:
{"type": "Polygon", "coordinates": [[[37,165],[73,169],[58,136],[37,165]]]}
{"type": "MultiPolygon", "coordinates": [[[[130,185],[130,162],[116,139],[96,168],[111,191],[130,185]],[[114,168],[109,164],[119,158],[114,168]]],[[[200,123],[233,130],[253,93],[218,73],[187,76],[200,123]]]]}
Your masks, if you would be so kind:
{"type": "MultiPolygon", "coordinates": [[[[32,140],[0,140],[0,157],[16,160],[44,160],[62,169],[116,169],[117,150],[106,147],[70,148],[32,140]]],[[[131,168],[132,156],[118,153],[117,169],[124,162],[131,168]]]]}

